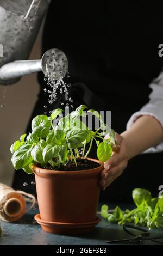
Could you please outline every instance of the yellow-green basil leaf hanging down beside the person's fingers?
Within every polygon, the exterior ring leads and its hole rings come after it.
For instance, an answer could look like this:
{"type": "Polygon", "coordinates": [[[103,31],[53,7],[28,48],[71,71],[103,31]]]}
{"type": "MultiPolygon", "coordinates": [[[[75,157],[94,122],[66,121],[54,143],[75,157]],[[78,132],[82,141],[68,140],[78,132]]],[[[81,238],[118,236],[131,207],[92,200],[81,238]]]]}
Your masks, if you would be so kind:
{"type": "Polygon", "coordinates": [[[97,148],[98,159],[104,163],[111,157],[111,155],[112,155],[111,145],[106,141],[101,142],[97,148]]]}

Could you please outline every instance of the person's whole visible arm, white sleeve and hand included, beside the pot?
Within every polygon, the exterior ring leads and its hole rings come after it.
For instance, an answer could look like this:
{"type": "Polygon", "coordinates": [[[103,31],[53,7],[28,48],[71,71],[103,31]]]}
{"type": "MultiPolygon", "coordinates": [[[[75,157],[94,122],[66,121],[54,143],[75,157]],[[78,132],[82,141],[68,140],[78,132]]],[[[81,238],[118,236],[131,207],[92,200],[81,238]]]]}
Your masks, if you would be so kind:
{"type": "Polygon", "coordinates": [[[99,183],[102,190],[122,174],[132,157],[143,151],[163,151],[163,71],[149,87],[152,89],[149,102],[131,116],[126,131],[121,135],[116,133],[120,151],[104,164],[99,183]]]}

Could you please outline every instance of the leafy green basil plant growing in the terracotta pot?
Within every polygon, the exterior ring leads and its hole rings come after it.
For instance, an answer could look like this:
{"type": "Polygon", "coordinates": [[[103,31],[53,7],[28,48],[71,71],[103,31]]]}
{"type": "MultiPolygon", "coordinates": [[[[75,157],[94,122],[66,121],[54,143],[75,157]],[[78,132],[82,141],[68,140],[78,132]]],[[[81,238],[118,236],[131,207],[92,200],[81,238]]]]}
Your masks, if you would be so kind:
{"type": "Polygon", "coordinates": [[[99,128],[92,131],[80,120],[86,117],[87,107],[80,105],[75,111],[57,120],[62,114],[62,109],[55,109],[48,117],[37,115],[32,120],[32,132],[27,136],[23,134],[19,140],[11,145],[12,164],[15,169],[21,169],[28,174],[32,173],[33,164],[46,167],[47,163],[53,168],[59,168],[60,164],[72,161],[77,165],[76,158],[79,157],[79,148],[83,148],[82,157],[87,157],[91,151],[93,141],[97,144],[97,156],[102,162],[108,160],[112,155],[112,147],[117,147],[115,132],[108,129],[101,115],[90,109],[91,113],[99,120],[99,128]],[[55,121],[55,125],[54,124],[55,121]],[[104,139],[105,132],[110,137],[104,139]],[[86,151],[86,144],[89,144],[86,151]]]}

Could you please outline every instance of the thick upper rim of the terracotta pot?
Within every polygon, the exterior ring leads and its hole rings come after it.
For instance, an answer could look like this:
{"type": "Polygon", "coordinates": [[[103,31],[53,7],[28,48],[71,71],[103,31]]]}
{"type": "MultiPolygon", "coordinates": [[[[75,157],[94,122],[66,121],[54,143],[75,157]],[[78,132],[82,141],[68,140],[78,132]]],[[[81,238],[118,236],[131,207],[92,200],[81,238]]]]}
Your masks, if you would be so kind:
{"type": "Polygon", "coordinates": [[[104,164],[103,162],[97,160],[97,159],[93,159],[90,157],[87,157],[87,159],[97,162],[100,164],[100,166],[93,168],[93,169],[86,169],[86,170],[48,170],[48,169],[43,169],[41,167],[37,167],[37,166],[33,166],[32,169],[34,171],[34,173],[37,176],[47,176],[47,175],[55,175],[55,176],[60,176],[60,175],[64,175],[64,176],[78,176],[79,178],[83,177],[83,176],[87,176],[87,178],[90,176],[97,176],[103,169],[104,169],[104,164]]]}

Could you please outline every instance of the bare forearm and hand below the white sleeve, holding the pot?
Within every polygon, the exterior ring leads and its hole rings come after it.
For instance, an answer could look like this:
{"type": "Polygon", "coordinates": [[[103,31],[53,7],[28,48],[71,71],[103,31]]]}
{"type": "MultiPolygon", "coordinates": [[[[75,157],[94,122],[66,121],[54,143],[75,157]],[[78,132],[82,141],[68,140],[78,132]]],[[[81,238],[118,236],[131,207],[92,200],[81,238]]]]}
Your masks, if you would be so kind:
{"type": "Polygon", "coordinates": [[[129,130],[124,131],[121,135],[116,133],[116,140],[120,151],[104,164],[105,169],[101,173],[99,181],[102,190],[105,190],[112,181],[122,174],[129,159],[163,140],[163,128],[154,117],[142,115],[129,130]]]}

